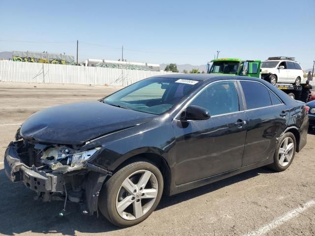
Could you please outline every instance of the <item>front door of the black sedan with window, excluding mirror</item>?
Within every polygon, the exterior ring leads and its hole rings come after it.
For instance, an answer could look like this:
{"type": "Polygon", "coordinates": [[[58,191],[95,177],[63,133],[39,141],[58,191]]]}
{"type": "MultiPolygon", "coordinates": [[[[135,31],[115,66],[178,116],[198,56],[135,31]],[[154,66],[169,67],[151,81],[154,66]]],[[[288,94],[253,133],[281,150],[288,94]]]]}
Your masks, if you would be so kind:
{"type": "Polygon", "coordinates": [[[189,105],[210,111],[207,120],[173,121],[176,136],[176,184],[240,168],[247,118],[240,111],[234,81],[216,82],[189,105]]]}

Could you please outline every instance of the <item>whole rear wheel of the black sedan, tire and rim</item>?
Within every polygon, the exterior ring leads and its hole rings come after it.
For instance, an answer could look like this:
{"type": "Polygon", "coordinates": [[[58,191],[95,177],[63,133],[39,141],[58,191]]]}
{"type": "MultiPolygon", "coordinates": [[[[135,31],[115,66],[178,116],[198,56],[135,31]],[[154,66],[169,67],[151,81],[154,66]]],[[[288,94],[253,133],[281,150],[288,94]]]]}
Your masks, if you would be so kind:
{"type": "Polygon", "coordinates": [[[275,171],[279,172],[285,171],[291,165],[294,159],[295,150],[296,150],[295,136],[290,132],[284,133],[284,135],[281,137],[276,146],[274,162],[271,165],[269,165],[269,167],[275,171]],[[285,140],[288,141],[286,148],[284,148],[286,142],[285,140]],[[291,144],[293,145],[293,147],[291,144]],[[287,153],[287,155],[285,153],[287,153]]]}

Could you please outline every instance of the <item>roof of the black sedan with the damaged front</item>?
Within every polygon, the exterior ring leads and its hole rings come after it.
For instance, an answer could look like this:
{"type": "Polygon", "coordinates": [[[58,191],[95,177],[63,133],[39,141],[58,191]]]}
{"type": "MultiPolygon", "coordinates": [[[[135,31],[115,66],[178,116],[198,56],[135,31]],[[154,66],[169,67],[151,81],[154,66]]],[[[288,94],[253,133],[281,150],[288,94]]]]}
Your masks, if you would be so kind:
{"type": "Polygon", "coordinates": [[[263,81],[262,79],[249,77],[249,76],[238,76],[238,75],[222,75],[222,74],[167,74],[157,75],[151,78],[173,78],[183,80],[198,80],[198,81],[217,81],[217,80],[254,80],[263,81]]]}

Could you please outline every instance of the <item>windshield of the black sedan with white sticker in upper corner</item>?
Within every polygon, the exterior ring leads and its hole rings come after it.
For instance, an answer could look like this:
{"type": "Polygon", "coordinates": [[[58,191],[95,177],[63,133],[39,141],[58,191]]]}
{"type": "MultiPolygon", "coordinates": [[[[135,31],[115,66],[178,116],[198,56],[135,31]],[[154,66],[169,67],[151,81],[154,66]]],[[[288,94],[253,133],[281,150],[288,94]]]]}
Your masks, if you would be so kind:
{"type": "Polygon", "coordinates": [[[160,115],[198,85],[199,81],[175,78],[150,78],[106,97],[109,105],[160,115]]]}

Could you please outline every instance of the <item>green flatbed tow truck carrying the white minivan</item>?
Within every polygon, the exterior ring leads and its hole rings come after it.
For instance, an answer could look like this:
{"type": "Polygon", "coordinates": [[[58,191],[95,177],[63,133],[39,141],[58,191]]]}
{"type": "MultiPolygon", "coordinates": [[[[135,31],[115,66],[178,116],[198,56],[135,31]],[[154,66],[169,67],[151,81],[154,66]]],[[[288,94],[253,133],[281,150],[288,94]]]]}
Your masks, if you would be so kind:
{"type": "MultiPolygon", "coordinates": [[[[224,75],[240,75],[261,78],[261,60],[242,60],[237,58],[213,59],[207,63],[207,73],[224,75]]],[[[283,90],[296,100],[307,102],[310,94],[310,86],[291,84],[276,84],[275,87],[283,90]]]]}

